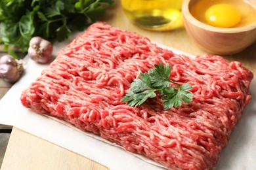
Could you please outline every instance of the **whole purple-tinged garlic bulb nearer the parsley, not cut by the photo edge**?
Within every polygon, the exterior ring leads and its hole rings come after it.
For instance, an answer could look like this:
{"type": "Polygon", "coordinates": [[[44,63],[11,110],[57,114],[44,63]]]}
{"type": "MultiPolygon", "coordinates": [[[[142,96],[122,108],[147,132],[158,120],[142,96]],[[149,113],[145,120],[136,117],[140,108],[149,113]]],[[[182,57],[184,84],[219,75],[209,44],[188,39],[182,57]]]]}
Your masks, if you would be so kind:
{"type": "Polygon", "coordinates": [[[47,63],[53,54],[53,44],[42,39],[41,37],[33,37],[30,40],[28,48],[28,56],[37,63],[47,63]]]}

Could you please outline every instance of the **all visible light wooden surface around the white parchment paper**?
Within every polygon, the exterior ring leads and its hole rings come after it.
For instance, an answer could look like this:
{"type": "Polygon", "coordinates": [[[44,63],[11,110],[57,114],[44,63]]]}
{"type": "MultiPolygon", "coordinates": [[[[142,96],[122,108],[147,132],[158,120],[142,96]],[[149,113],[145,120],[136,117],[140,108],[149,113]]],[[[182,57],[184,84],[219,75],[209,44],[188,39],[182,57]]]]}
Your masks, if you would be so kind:
{"type": "MultiPolygon", "coordinates": [[[[177,48],[184,52],[200,55],[205,54],[187,35],[186,30],[154,32],[140,29],[131,24],[125,17],[119,1],[108,9],[102,21],[115,27],[134,31],[149,37],[152,41],[177,48]]],[[[239,54],[224,56],[232,61],[241,61],[242,64],[256,74],[256,42],[239,54]]],[[[0,98],[11,88],[11,84],[0,80],[0,98]]],[[[11,137],[1,169],[108,169],[95,161],[89,160],[79,154],[66,150],[60,146],[49,143],[30,133],[13,127],[11,137]]]]}

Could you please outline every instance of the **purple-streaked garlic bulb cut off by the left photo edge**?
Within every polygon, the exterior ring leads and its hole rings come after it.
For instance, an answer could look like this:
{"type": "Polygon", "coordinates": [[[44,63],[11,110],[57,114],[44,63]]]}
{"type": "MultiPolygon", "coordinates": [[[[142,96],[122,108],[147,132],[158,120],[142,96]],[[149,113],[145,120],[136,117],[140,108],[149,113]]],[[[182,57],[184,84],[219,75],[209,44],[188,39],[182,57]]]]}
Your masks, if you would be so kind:
{"type": "Polygon", "coordinates": [[[7,82],[14,83],[24,72],[22,63],[10,55],[5,55],[0,58],[0,78],[7,82]]]}

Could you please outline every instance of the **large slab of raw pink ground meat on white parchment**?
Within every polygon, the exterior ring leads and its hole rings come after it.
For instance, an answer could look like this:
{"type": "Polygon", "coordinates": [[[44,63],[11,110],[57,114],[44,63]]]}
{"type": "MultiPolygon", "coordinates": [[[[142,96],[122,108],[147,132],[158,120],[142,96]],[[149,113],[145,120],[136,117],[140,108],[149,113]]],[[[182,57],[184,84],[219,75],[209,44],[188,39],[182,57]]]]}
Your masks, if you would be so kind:
{"type": "Polygon", "coordinates": [[[142,154],[168,169],[211,169],[249,103],[253,73],[238,61],[174,54],[106,23],[91,25],[20,97],[25,107],[142,154]],[[163,110],[120,101],[139,73],[169,63],[170,79],[189,82],[193,101],[163,110]]]}

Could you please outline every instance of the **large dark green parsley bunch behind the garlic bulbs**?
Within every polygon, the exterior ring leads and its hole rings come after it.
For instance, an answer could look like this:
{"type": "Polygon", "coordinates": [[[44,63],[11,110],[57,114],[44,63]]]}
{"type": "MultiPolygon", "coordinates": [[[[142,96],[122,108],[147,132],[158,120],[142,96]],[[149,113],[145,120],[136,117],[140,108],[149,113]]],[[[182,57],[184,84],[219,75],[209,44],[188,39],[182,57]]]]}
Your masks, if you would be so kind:
{"type": "Polygon", "coordinates": [[[113,0],[1,0],[0,43],[28,50],[32,37],[64,41],[72,28],[79,31],[93,24],[113,5],[113,0]]]}

